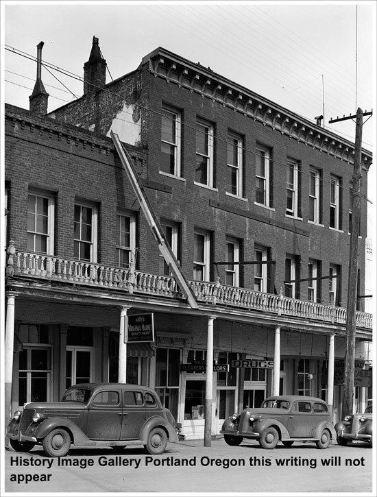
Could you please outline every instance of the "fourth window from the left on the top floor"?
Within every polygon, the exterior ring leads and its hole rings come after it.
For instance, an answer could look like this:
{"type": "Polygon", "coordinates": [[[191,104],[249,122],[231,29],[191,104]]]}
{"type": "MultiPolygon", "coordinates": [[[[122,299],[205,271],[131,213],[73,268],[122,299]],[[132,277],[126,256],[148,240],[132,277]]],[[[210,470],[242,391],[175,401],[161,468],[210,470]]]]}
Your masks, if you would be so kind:
{"type": "Polygon", "coordinates": [[[271,150],[263,145],[256,145],[255,202],[272,207],[272,162],[271,150]]]}

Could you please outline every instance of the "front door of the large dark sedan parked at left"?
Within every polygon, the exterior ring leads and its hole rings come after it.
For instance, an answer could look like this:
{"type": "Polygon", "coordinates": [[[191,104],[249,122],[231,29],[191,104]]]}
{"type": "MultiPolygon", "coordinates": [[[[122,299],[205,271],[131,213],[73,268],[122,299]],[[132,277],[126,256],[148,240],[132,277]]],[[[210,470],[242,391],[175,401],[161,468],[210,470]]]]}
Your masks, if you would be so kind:
{"type": "Polygon", "coordinates": [[[119,440],[122,418],[121,391],[99,391],[88,404],[86,435],[92,440],[119,440]]]}

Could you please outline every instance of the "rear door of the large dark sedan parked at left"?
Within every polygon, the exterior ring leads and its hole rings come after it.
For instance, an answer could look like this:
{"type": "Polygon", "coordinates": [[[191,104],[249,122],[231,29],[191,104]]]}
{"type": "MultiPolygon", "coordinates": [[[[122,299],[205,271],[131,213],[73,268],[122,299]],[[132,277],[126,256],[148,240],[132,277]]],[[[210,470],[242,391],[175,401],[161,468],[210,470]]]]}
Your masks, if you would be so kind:
{"type": "Polygon", "coordinates": [[[141,428],[147,420],[143,392],[123,390],[123,415],[121,424],[121,440],[139,439],[141,428]]]}

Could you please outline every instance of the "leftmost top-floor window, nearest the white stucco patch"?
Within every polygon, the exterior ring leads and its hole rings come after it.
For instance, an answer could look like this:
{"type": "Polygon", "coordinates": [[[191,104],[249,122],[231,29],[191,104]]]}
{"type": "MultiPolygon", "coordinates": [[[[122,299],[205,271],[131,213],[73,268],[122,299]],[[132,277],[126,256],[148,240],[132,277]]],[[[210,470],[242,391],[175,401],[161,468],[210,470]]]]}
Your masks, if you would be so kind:
{"type": "Polygon", "coordinates": [[[161,117],[160,172],[180,176],[181,113],[163,106],[161,117]]]}

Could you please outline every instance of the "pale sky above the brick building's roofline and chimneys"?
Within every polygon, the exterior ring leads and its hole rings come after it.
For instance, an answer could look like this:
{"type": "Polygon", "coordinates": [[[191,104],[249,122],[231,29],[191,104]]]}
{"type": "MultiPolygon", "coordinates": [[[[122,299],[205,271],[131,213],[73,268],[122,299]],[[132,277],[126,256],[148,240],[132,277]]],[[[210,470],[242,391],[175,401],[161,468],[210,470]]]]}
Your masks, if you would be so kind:
{"type": "MultiPolygon", "coordinates": [[[[200,62],[354,141],[354,121],[329,124],[330,118],[372,110],[376,100],[376,1],[207,1],[1,2],[3,99],[29,107],[36,56],[69,71],[42,69],[49,111],[82,95],[84,62],[93,36],[108,64],[107,82],[136,69],[143,56],[164,47],[200,62]],[[357,19],[357,22],[356,22],[357,19]],[[356,33],[357,27],[357,33],[356,33]],[[64,85],[64,86],[63,86],[64,85]]],[[[371,150],[375,118],[363,126],[363,146],[371,150]]],[[[368,197],[374,202],[375,166],[368,197]]],[[[375,229],[369,204],[369,234],[375,229]]]]}

